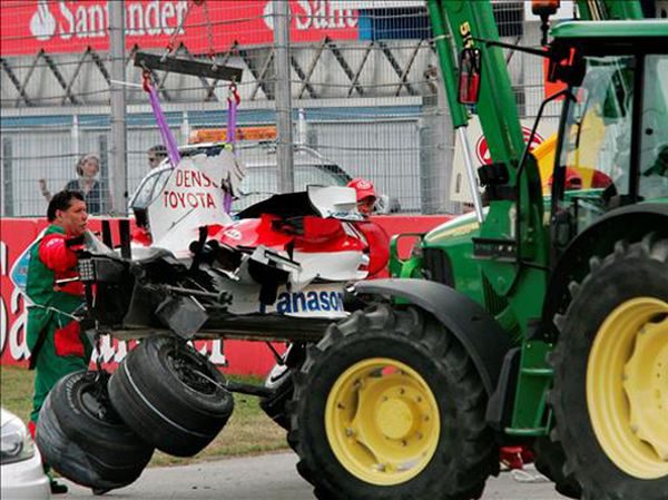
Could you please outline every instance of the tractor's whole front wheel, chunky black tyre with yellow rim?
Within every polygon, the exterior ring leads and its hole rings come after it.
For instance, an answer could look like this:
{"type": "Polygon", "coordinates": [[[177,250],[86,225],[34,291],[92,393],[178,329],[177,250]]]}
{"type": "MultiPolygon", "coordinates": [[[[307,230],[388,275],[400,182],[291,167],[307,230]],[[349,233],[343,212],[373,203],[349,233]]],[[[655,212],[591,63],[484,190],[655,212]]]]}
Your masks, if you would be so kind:
{"type": "Polygon", "coordinates": [[[294,379],[288,440],[321,500],[477,499],[499,471],[480,375],[418,308],[331,325],[294,379]]]}

